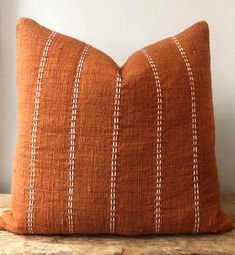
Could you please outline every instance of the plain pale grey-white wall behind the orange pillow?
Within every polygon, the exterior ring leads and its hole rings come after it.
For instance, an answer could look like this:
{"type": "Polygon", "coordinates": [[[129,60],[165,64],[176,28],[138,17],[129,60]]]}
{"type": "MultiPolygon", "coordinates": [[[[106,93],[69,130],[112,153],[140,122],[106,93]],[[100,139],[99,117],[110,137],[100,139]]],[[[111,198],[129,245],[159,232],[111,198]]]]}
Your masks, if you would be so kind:
{"type": "Polygon", "coordinates": [[[234,0],[0,0],[0,192],[11,188],[17,132],[15,24],[21,16],[86,41],[119,65],[143,46],[206,20],[220,184],[223,192],[235,191],[234,0]]]}

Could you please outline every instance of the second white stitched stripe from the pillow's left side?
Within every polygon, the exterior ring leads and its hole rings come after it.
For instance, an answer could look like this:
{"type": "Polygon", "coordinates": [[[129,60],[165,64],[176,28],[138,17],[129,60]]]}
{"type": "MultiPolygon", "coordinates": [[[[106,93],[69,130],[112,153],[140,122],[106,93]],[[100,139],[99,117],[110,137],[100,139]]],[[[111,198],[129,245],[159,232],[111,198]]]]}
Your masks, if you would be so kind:
{"type": "Polygon", "coordinates": [[[68,217],[68,228],[69,232],[73,232],[73,194],[74,194],[74,172],[75,172],[75,139],[76,139],[76,121],[77,121],[77,105],[78,105],[78,94],[80,86],[80,78],[83,69],[83,63],[87,55],[89,45],[86,45],[79,63],[76,69],[76,76],[74,81],[74,90],[72,98],[72,112],[71,112],[71,123],[70,123],[70,148],[69,148],[69,188],[68,188],[68,205],[67,205],[67,217],[68,217]]]}

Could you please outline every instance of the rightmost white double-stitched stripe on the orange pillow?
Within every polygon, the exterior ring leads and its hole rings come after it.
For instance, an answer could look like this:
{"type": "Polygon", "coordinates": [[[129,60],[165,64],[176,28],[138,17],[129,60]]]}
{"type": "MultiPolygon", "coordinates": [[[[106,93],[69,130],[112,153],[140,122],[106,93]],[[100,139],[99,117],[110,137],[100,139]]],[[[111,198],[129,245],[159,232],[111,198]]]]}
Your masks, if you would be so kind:
{"type": "Polygon", "coordinates": [[[194,75],[191,68],[189,59],[178,41],[178,39],[173,36],[171,38],[178,48],[188,74],[190,94],[191,94],[191,113],[192,113],[192,152],[193,152],[193,192],[194,192],[194,229],[195,233],[199,232],[200,227],[200,194],[199,194],[199,181],[198,181],[198,136],[197,136],[197,108],[196,108],[196,89],[194,83],[194,75]]]}

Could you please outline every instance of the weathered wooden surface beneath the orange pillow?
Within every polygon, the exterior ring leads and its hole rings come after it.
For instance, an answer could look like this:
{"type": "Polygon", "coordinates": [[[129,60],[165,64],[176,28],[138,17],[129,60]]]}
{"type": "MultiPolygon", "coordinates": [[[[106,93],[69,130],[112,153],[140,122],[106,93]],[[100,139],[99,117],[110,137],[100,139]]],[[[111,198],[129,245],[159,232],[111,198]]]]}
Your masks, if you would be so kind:
{"type": "MultiPolygon", "coordinates": [[[[0,213],[10,206],[10,196],[0,195],[0,213]]],[[[223,196],[223,208],[235,225],[235,194],[223,196]]],[[[0,255],[10,254],[235,254],[235,228],[219,235],[175,236],[23,236],[0,231],[0,255]]]]}

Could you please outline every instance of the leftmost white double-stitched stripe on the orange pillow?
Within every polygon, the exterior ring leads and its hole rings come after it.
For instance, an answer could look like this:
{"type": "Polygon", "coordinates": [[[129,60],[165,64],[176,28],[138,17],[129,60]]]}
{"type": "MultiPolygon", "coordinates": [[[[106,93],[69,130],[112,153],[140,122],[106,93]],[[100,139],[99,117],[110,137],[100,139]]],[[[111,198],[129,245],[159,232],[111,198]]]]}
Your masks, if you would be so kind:
{"type": "Polygon", "coordinates": [[[30,154],[30,171],[29,171],[29,204],[28,204],[28,215],[27,215],[27,230],[30,234],[33,234],[33,211],[35,204],[35,174],[36,174],[36,145],[37,145],[37,130],[38,130],[38,116],[39,116],[39,103],[41,86],[43,79],[43,72],[48,56],[49,48],[56,35],[56,32],[52,32],[47,39],[45,44],[42,57],[39,64],[38,77],[36,82],[36,93],[34,99],[34,111],[32,119],[32,130],[31,130],[31,154],[30,154]]]}

